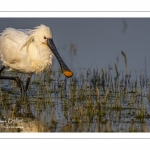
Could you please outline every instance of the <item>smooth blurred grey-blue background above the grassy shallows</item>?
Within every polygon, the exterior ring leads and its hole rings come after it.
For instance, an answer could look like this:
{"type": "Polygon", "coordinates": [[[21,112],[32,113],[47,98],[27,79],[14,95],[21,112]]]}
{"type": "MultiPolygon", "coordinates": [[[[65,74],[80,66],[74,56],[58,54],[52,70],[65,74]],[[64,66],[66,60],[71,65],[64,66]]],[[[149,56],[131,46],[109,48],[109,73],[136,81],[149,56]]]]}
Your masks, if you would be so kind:
{"type": "MultiPolygon", "coordinates": [[[[146,69],[150,74],[150,18],[0,18],[0,33],[40,24],[51,28],[60,55],[74,72],[114,70],[115,64],[125,71],[123,50],[129,72],[146,69]]],[[[59,67],[56,58],[54,66],[59,67]]]]}

